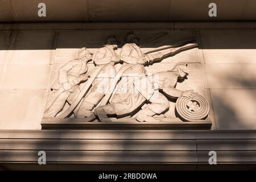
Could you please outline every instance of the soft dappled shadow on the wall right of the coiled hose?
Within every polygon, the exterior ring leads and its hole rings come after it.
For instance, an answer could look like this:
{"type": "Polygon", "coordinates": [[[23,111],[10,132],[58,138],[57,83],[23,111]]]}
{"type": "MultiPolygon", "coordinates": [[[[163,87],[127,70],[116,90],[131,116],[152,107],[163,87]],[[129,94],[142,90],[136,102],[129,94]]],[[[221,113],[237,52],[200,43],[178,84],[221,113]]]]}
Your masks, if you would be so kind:
{"type": "Polygon", "coordinates": [[[217,129],[256,129],[256,74],[250,66],[212,73],[210,80],[216,88],[210,93],[217,129]]]}

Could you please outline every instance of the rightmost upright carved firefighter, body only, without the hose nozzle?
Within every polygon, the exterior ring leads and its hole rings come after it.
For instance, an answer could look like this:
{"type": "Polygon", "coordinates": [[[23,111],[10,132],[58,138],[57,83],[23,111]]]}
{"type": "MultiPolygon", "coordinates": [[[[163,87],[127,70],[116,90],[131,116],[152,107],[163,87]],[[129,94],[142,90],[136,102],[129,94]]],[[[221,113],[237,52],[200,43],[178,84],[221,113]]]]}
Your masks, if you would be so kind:
{"type": "Polygon", "coordinates": [[[110,121],[107,114],[122,115],[130,113],[145,101],[144,97],[139,93],[134,93],[132,90],[134,88],[129,88],[129,85],[133,83],[134,79],[146,75],[143,64],[148,61],[147,57],[137,46],[139,38],[135,34],[128,34],[125,43],[121,50],[120,59],[123,61],[122,67],[127,65],[130,67],[122,73],[117,90],[110,101],[111,104],[100,106],[94,110],[100,121],[110,121]]]}

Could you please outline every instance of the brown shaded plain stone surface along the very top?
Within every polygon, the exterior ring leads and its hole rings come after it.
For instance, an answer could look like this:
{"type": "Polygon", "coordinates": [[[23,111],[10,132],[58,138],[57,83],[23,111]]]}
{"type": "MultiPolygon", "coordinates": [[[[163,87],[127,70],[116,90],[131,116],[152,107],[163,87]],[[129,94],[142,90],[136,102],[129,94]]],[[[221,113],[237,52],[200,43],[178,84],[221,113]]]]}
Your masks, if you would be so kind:
{"type": "Polygon", "coordinates": [[[0,22],[172,22],[254,20],[254,0],[20,0],[0,1],[0,22]],[[47,16],[38,16],[45,3],[47,16]],[[209,17],[216,3],[217,17],[209,17]],[[154,13],[153,13],[154,12],[154,13]]]}

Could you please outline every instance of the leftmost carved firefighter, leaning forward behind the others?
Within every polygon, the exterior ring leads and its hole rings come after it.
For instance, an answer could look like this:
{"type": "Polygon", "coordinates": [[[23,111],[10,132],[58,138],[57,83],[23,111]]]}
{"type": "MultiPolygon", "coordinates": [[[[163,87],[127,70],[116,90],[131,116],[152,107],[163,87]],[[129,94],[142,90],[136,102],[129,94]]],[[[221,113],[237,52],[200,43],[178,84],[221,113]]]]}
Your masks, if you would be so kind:
{"type": "Polygon", "coordinates": [[[59,69],[59,78],[51,86],[53,92],[51,100],[47,103],[44,117],[55,117],[65,105],[72,104],[77,94],[80,93],[79,83],[87,77],[87,63],[92,60],[92,54],[81,48],[77,59],[71,60],[59,69]]]}

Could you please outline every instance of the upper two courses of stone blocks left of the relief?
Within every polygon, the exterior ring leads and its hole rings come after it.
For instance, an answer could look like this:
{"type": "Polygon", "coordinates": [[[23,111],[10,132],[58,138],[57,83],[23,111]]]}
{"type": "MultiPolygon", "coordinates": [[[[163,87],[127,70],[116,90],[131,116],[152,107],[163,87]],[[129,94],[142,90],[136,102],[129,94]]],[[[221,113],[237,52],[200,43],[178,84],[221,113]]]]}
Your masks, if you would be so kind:
{"type": "Polygon", "coordinates": [[[5,70],[0,88],[47,89],[55,33],[3,31],[3,34],[5,42],[1,45],[0,64],[5,70]]]}

